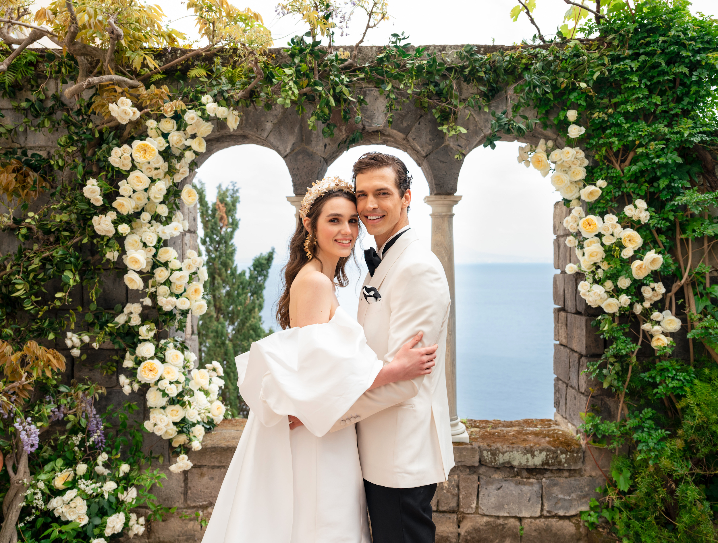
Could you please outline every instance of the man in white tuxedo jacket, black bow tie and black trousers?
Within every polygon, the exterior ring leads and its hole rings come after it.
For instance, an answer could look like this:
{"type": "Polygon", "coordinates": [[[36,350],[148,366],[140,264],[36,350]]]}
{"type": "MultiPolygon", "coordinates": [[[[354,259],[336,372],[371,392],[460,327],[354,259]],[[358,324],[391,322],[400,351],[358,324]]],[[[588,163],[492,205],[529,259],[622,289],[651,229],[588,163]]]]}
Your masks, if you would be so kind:
{"type": "Polygon", "coordinates": [[[358,321],[380,359],[424,332],[420,347],[439,344],[431,374],[367,391],[332,427],[357,424],[359,459],[374,543],[433,543],[431,501],[454,466],[444,358],[449,285],[439,259],[409,226],[411,176],[391,154],[364,154],[353,167],[357,210],[378,250],[358,321]]]}

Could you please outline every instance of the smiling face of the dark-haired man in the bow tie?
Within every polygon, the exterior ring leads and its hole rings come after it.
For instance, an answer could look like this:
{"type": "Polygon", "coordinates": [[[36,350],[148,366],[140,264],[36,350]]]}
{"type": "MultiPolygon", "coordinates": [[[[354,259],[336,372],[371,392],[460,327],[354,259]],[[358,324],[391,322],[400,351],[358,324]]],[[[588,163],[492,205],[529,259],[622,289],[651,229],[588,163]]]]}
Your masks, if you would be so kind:
{"type": "Polygon", "coordinates": [[[356,197],[359,217],[378,243],[408,223],[406,208],[411,203],[411,190],[399,195],[396,173],[391,167],[357,174],[356,197]]]}

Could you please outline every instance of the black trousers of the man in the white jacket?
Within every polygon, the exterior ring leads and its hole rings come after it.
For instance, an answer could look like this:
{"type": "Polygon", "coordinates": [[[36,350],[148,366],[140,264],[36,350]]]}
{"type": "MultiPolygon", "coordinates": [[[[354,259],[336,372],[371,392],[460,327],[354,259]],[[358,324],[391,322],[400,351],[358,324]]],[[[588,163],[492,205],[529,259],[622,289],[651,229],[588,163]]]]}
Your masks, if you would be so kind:
{"type": "Polygon", "coordinates": [[[374,543],[434,543],[432,498],[437,483],[388,488],[364,480],[374,543]]]}

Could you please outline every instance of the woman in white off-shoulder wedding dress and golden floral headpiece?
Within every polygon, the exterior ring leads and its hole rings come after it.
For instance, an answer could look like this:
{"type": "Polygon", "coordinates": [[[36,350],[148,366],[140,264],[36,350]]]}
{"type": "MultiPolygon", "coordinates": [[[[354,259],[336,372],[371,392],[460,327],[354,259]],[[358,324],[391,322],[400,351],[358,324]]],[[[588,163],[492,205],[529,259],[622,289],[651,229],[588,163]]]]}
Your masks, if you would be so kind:
{"type": "Polygon", "coordinates": [[[342,310],[359,218],[352,185],[312,185],[289,243],[283,329],[236,358],[249,417],[203,543],[370,543],[355,425],[328,433],[366,390],[431,373],[421,332],[385,363],[342,310]]]}

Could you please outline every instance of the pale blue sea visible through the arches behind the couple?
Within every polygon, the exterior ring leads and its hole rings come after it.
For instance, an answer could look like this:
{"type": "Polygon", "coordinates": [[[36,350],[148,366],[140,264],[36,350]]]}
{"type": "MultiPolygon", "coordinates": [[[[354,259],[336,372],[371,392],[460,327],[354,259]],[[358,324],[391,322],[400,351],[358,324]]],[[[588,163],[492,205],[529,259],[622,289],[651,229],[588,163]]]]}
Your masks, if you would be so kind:
{"type": "MultiPolygon", "coordinates": [[[[366,269],[350,266],[340,304],[356,314],[366,269]]],[[[246,264],[245,264],[246,265],[246,264]]],[[[278,329],[281,266],[264,292],[265,326],[278,329]]],[[[553,418],[552,264],[457,264],[457,411],[469,419],[553,418]]]]}

